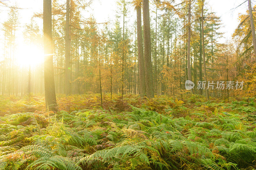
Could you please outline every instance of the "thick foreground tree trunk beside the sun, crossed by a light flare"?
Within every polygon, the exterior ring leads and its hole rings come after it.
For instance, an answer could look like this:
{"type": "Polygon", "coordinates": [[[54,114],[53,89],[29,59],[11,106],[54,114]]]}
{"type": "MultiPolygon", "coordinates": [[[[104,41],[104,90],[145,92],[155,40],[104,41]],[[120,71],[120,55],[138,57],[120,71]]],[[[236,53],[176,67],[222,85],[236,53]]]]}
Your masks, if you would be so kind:
{"type": "Polygon", "coordinates": [[[50,111],[56,111],[57,102],[52,62],[52,0],[44,0],[43,32],[45,105],[50,111]]]}

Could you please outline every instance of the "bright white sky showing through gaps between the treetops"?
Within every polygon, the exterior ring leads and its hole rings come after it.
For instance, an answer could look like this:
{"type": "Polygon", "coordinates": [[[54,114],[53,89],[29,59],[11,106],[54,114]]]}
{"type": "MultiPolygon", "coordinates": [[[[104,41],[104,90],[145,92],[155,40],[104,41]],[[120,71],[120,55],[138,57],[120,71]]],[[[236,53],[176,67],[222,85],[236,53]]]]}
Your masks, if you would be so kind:
{"type": "MultiPolygon", "coordinates": [[[[65,2],[65,0],[61,0],[65,2]]],[[[176,0],[179,1],[179,0],[176,0]]],[[[212,11],[216,12],[218,16],[221,17],[223,27],[221,31],[225,33],[223,35],[223,39],[220,41],[225,42],[226,38],[230,39],[232,33],[236,29],[238,22],[238,14],[245,13],[247,10],[248,3],[244,3],[240,7],[234,9],[238,5],[242,4],[244,0],[206,0],[207,4],[212,7],[212,11]]],[[[26,8],[19,10],[20,13],[20,23],[21,27],[24,28],[25,23],[30,22],[30,18],[34,14],[34,12],[42,12],[43,11],[43,0],[6,0],[5,3],[17,4],[20,8],[26,8]]],[[[175,4],[175,3],[174,3],[175,4]]],[[[254,6],[255,0],[252,0],[252,5],[254,6]]],[[[0,4],[1,5],[1,4],[0,4]]],[[[134,22],[135,20],[135,11],[134,7],[129,5],[130,12],[129,16],[131,19],[130,22],[134,22]]],[[[0,24],[2,24],[8,15],[8,7],[0,6],[0,24]]],[[[90,9],[87,9],[95,18],[98,23],[106,22],[109,19],[114,21],[116,14],[116,0],[94,0],[90,9]]],[[[42,23],[41,20],[38,20],[42,23]]],[[[122,26],[122,24],[121,24],[122,26]]],[[[23,30],[23,29],[20,29],[23,30]]],[[[22,32],[20,32],[21,34],[22,32]]],[[[21,38],[21,37],[20,37],[21,38]]]]}

